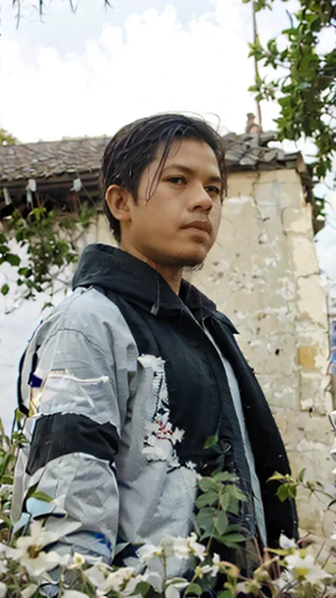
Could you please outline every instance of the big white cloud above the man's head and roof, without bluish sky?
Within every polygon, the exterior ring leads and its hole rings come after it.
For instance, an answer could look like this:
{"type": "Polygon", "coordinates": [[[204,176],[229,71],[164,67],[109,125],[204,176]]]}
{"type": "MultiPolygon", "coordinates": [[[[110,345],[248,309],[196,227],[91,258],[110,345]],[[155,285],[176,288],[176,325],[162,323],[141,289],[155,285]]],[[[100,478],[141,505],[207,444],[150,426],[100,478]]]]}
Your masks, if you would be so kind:
{"type": "Polygon", "coordinates": [[[134,118],[182,110],[214,122],[216,114],[224,127],[242,131],[254,110],[247,13],[241,0],[218,0],[209,9],[186,26],[174,6],[133,14],[123,29],[104,26],[81,55],[63,60],[43,45],[32,61],[4,39],[1,82],[9,93],[1,99],[2,126],[27,142],[110,134],[134,118]]]}

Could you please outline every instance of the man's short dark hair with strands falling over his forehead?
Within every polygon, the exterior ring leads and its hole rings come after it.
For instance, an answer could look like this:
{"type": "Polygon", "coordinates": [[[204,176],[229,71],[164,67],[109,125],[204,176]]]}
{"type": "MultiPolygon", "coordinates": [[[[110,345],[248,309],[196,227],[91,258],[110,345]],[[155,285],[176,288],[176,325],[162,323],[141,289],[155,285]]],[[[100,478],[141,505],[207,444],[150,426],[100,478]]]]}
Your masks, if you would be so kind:
{"type": "Polygon", "coordinates": [[[121,128],[113,136],[103,153],[101,164],[101,192],[103,207],[113,235],[120,243],[121,226],[108,209],[105,195],[110,185],[127,189],[137,201],[140,178],[145,168],[155,160],[157,148],[163,144],[163,153],[148,192],[148,199],[161,176],[164,163],[175,139],[195,139],[210,145],[218,160],[223,180],[222,192],[226,191],[225,151],[223,139],[211,125],[201,118],[184,114],[157,114],[140,118],[121,128]]]}

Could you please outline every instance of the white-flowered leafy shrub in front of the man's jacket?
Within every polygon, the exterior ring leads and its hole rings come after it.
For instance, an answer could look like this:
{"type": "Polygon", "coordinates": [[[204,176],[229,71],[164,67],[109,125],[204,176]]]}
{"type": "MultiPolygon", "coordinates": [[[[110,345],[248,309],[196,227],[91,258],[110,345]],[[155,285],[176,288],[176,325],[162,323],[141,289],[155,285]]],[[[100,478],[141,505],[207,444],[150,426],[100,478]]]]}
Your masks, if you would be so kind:
{"type": "MultiPolygon", "coordinates": [[[[218,598],[235,598],[238,594],[261,598],[336,596],[336,577],[318,565],[299,542],[286,536],[280,537],[279,549],[260,557],[250,578],[244,577],[234,563],[213,553],[213,540],[238,548],[244,539],[239,529],[228,523],[228,513],[234,513],[237,503],[245,500],[236,485],[237,478],[228,472],[199,478],[197,533],[188,538],[165,536],[159,546],[141,546],[136,568],[109,566],[79,553],[60,555],[45,550],[59,536],[46,531],[43,520],[32,521],[28,535],[16,537],[9,509],[13,461],[22,441],[20,433],[14,433],[9,441],[0,421],[0,598],[192,598],[214,587],[218,598]],[[188,569],[193,563],[188,579],[169,577],[169,560],[173,558],[188,563],[188,569]]],[[[282,482],[281,500],[294,496],[298,485],[305,485],[302,473],[298,480],[278,474],[274,477],[282,482]]],[[[315,491],[311,482],[306,482],[306,487],[315,491]]],[[[35,497],[39,495],[35,492],[35,497]]],[[[72,531],[74,524],[62,526],[62,536],[72,531]]]]}

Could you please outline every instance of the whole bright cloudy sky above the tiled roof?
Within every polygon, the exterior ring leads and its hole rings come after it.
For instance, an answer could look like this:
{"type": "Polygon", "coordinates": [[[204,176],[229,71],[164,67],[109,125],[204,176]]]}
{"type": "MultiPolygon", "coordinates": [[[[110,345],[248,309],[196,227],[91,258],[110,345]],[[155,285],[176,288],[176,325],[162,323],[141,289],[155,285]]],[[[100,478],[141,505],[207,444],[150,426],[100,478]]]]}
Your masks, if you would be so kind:
{"type": "MultiPolygon", "coordinates": [[[[261,35],[289,23],[278,1],[259,18],[261,35]]],[[[52,0],[44,22],[31,0],[21,21],[4,0],[1,126],[22,142],[110,135],[165,110],[201,113],[242,132],[254,112],[251,5],[242,0],[52,0]],[[217,116],[214,116],[217,115],[217,116]]],[[[267,33],[268,32],[268,33],[267,33]]],[[[276,106],[263,106],[272,128],[276,106]]]]}

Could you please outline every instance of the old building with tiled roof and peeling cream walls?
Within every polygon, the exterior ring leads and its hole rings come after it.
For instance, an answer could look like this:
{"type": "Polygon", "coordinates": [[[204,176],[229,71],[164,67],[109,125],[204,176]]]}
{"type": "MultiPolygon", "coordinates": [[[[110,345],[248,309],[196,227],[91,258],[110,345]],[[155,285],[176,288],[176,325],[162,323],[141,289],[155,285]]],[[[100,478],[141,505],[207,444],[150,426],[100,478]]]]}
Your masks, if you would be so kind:
{"type": "MultiPolygon", "coordinates": [[[[193,282],[240,331],[237,340],[281,428],[293,471],[306,468],[307,479],[330,483],[327,301],[313,242],[318,223],[311,180],[299,153],[269,147],[272,133],[225,139],[228,198],[218,240],[193,282]]],[[[0,148],[0,184],[6,189],[0,218],[14,204],[24,213],[37,192],[59,205],[65,198],[76,201],[77,194],[98,199],[105,145],[106,138],[84,138],[0,148]]],[[[85,243],[92,241],[112,243],[103,215],[86,235],[85,243]]],[[[0,407],[7,419],[16,402],[16,363],[44,301],[0,315],[0,407]]],[[[330,535],[322,503],[298,500],[301,528],[322,536],[325,525],[330,535]]]]}

